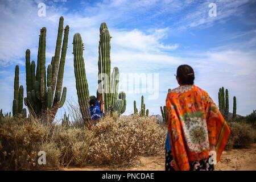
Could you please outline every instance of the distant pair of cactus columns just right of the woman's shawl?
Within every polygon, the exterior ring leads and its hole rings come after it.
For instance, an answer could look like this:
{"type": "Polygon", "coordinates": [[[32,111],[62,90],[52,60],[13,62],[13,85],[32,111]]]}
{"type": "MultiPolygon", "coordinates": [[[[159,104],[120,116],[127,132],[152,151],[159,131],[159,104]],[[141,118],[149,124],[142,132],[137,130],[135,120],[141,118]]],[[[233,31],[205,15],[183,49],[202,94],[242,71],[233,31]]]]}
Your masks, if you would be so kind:
{"type": "MultiPolygon", "coordinates": [[[[236,118],[236,97],[233,98],[233,117],[236,118]]],[[[224,116],[226,120],[229,119],[229,91],[228,89],[222,88],[219,89],[218,92],[218,107],[221,111],[221,114],[224,116]]]]}

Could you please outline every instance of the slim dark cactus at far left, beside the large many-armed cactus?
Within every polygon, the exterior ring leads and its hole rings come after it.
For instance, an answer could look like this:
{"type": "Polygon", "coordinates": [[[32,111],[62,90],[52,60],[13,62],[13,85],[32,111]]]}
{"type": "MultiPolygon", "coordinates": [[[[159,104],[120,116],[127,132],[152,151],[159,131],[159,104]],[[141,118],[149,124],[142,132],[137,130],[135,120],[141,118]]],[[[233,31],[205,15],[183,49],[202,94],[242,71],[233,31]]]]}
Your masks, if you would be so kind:
{"type": "Polygon", "coordinates": [[[23,96],[24,89],[23,86],[19,86],[19,66],[15,67],[15,76],[14,76],[14,100],[13,100],[13,116],[18,114],[23,114],[26,109],[23,109],[23,96]]]}

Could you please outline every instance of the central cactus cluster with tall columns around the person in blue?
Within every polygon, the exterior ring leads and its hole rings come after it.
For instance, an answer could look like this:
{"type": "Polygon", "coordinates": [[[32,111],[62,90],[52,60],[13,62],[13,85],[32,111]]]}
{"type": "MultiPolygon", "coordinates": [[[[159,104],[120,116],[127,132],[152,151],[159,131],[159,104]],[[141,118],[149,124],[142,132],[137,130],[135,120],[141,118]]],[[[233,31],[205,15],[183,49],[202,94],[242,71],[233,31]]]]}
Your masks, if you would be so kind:
{"type": "MultiPolygon", "coordinates": [[[[119,87],[119,70],[117,67],[113,68],[111,73],[111,61],[110,61],[110,39],[108,26],[106,23],[101,23],[100,26],[100,42],[98,46],[98,89],[97,97],[102,90],[104,90],[104,111],[108,113],[110,111],[117,111],[119,114],[125,112],[126,98],[125,93],[121,92],[118,95],[119,87]],[[102,75],[101,75],[102,73],[102,75]],[[103,80],[102,80],[103,78],[103,80]],[[103,82],[105,82],[104,86],[103,82]],[[102,87],[104,89],[102,89],[102,87]]],[[[88,89],[88,82],[86,79],[85,64],[84,64],[84,43],[79,33],[76,33],[73,37],[73,55],[74,55],[74,70],[76,78],[76,90],[79,100],[80,111],[84,122],[90,120],[89,113],[89,100],[90,94],[88,89]]]]}

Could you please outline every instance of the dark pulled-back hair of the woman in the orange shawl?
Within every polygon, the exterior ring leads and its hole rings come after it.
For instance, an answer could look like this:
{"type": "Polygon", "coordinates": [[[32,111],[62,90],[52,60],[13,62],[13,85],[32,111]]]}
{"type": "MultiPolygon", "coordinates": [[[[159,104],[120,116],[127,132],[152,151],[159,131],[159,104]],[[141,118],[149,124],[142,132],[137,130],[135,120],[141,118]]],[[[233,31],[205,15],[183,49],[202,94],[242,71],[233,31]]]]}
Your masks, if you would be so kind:
{"type": "Polygon", "coordinates": [[[183,64],[177,68],[177,77],[180,79],[180,84],[193,85],[195,80],[195,73],[191,66],[183,64]]]}

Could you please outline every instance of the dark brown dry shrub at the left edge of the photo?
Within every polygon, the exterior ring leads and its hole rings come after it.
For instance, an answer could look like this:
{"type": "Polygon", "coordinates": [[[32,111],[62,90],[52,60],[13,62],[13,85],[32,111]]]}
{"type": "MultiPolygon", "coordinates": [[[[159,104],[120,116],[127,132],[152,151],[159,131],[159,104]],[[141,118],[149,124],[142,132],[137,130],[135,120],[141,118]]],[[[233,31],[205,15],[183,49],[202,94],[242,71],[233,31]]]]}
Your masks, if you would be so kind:
{"type": "Polygon", "coordinates": [[[38,121],[20,117],[1,118],[0,169],[32,169],[37,166],[38,144],[47,138],[49,130],[38,121]]]}

